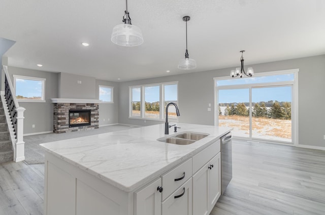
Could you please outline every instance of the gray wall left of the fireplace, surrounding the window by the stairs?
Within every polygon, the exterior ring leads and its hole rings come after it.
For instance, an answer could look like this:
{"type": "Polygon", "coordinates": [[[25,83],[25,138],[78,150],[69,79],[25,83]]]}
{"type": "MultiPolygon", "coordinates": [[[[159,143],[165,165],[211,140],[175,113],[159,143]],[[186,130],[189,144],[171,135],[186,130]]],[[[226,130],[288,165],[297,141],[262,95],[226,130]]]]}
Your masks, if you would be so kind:
{"type": "Polygon", "coordinates": [[[53,104],[51,98],[57,98],[57,73],[17,67],[8,67],[8,72],[11,81],[13,81],[13,74],[46,78],[46,102],[19,102],[19,106],[26,109],[24,112],[24,134],[53,131],[53,104]],[[32,128],[32,124],[35,124],[35,128],[32,128]]]}

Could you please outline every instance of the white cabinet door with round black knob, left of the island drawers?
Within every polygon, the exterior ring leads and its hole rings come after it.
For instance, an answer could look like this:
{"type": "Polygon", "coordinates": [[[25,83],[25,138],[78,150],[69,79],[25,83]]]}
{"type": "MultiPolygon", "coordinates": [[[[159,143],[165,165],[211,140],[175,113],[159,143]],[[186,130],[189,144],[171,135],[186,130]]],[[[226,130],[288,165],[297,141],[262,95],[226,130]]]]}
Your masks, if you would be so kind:
{"type": "Polygon", "coordinates": [[[161,193],[157,190],[161,179],[135,192],[135,215],[160,215],[161,193]]]}

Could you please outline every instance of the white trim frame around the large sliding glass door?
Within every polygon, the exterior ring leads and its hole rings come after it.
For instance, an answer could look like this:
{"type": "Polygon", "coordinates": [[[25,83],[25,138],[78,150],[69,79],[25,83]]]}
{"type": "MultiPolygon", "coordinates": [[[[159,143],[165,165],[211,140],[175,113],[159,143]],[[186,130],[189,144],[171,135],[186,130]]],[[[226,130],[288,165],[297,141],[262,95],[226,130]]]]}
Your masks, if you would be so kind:
{"type": "MultiPolygon", "coordinates": [[[[214,84],[214,125],[218,126],[219,125],[219,115],[216,114],[218,111],[218,98],[217,98],[217,90],[218,89],[230,89],[232,87],[232,89],[234,88],[244,88],[246,86],[249,85],[249,87],[256,87],[257,85],[264,85],[264,86],[273,86],[273,85],[292,85],[293,86],[293,101],[291,104],[291,134],[293,134],[293,136],[291,137],[291,141],[292,144],[287,144],[281,141],[269,141],[269,142],[274,142],[274,143],[279,143],[279,144],[284,144],[284,145],[295,145],[298,146],[299,145],[299,127],[298,127],[298,72],[299,69],[287,69],[287,70],[279,70],[279,71],[271,71],[271,72],[258,72],[258,73],[254,73],[254,76],[268,76],[268,75],[280,75],[280,74],[289,74],[289,73],[293,73],[295,76],[295,80],[293,81],[279,81],[279,82],[267,82],[267,83],[253,83],[253,84],[238,84],[238,85],[226,85],[226,86],[220,86],[217,87],[216,86],[216,81],[217,80],[224,80],[224,79],[231,79],[230,76],[222,76],[222,77],[214,77],[213,78],[213,84],[214,84]]],[[[246,78],[246,77],[245,77],[246,78]]],[[[249,77],[247,77],[249,78],[249,77]]],[[[250,131],[251,132],[251,131],[250,131]]],[[[243,138],[243,139],[247,139],[247,138],[243,138]]],[[[248,138],[248,140],[251,140],[250,138],[248,138]]],[[[257,140],[256,138],[252,139],[252,140],[257,140]]],[[[264,140],[265,141],[265,140],[264,140]]]]}

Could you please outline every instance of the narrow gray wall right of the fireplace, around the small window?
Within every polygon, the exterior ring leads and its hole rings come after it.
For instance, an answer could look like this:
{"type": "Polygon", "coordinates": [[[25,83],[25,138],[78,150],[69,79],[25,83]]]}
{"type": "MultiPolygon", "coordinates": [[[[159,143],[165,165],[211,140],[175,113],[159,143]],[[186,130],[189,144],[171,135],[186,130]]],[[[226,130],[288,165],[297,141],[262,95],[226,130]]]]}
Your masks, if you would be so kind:
{"type": "Polygon", "coordinates": [[[100,126],[117,124],[118,123],[118,100],[119,92],[117,82],[106,81],[106,80],[96,80],[96,99],[99,99],[98,85],[105,85],[113,87],[113,102],[114,103],[100,103],[99,113],[100,113],[100,126]]]}

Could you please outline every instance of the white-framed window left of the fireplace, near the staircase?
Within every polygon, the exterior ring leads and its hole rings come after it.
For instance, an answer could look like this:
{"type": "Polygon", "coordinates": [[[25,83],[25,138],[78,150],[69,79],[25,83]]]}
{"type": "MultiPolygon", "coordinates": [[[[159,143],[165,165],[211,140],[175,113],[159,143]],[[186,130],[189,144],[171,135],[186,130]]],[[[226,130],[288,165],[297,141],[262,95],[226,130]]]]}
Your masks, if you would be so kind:
{"type": "Polygon", "coordinates": [[[19,102],[45,102],[45,78],[13,75],[19,102]]]}

